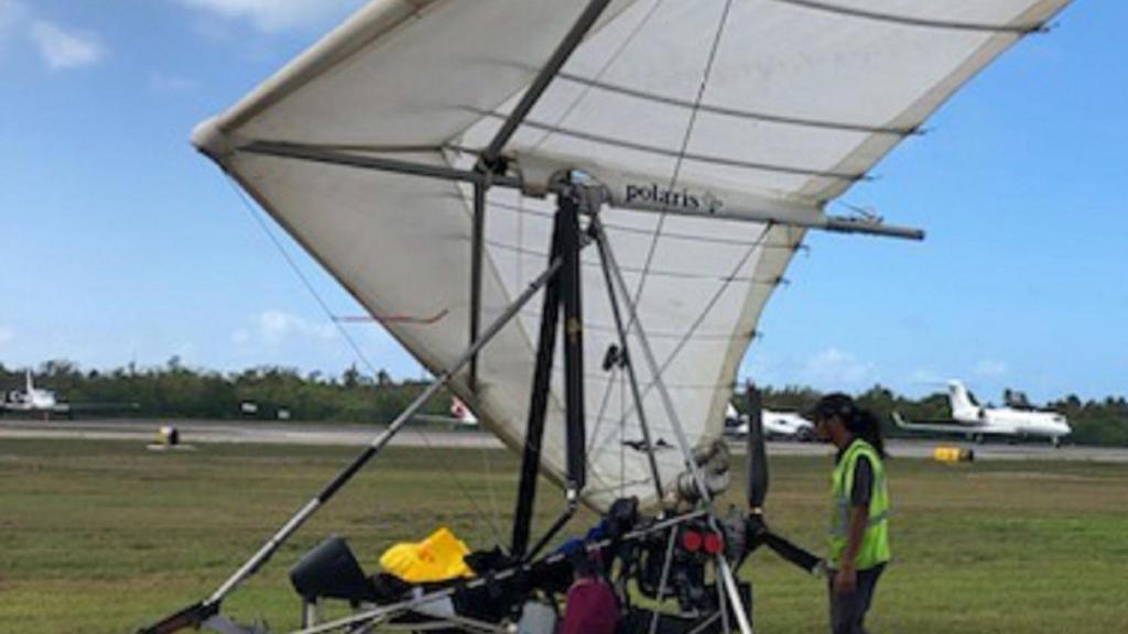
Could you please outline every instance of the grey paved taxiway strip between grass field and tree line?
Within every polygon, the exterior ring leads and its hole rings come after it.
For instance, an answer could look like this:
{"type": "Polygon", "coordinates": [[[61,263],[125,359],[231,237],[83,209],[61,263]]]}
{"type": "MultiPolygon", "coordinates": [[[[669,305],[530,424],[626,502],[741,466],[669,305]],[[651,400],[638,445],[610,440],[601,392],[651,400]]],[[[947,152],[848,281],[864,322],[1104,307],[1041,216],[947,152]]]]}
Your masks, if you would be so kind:
{"type": "MultiPolygon", "coordinates": [[[[257,421],[143,421],[143,420],[76,420],[76,421],[0,421],[0,440],[3,439],[89,439],[152,442],[161,425],[175,425],[184,443],[264,443],[264,444],[320,444],[359,447],[368,444],[382,428],[373,425],[345,425],[332,423],[279,423],[257,421]]],[[[901,440],[889,442],[889,452],[907,458],[932,455],[940,443],[959,444],[975,449],[976,459],[1022,460],[1057,459],[1128,463],[1128,449],[1104,447],[1065,446],[1055,449],[1049,443],[988,443],[971,444],[938,440],[901,440]]],[[[408,426],[391,441],[398,447],[467,447],[500,448],[501,441],[478,430],[443,430],[408,426]]],[[[743,441],[733,441],[737,454],[742,452],[743,441]]],[[[768,452],[778,456],[829,455],[830,447],[819,443],[770,442],[768,452]]]]}

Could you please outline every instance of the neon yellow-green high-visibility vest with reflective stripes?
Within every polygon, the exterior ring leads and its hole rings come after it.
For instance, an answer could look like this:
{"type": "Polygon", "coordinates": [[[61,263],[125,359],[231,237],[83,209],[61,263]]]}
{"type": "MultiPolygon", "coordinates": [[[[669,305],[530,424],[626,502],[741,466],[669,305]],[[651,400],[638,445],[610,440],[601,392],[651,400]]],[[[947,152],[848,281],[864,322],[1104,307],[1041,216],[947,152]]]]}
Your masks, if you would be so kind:
{"type": "Polygon", "coordinates": [[[866,520],[862,546],[855,561],[857,570],[867,570],[891,558],[889,552],[889,491],[885,487],[885,466],[872,444],[855,439],[835,466],[831,475],[830,496],[830,565],[837,566],[849,541],[851,491],[854,487],[854,467],[865,456],[873,467],[873,493],[870,496],[870,517],[866,520]]]}

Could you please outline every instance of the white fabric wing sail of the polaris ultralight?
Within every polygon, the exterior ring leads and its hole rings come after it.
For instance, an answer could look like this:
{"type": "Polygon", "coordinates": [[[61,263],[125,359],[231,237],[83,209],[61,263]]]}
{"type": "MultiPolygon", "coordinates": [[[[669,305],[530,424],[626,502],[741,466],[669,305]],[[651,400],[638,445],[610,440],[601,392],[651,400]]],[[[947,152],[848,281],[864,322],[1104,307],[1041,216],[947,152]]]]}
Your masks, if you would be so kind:
{"type": "MultiPolygon", "coordinates": [[[[821,215],[952,93],[1067,0],[615,0],[505,148],[582,168],[623,200],[732,197],[821,215]],[[613,184],[614,182],[614,184],[613,184]]],[[[433,371],[468,344],[472,192],[449,180],[240,151],[256,141],[469,168],[584,0],[376,0],[202,124],[218,160],[433,371]],[[390,319],[414,316],[418,319],[390,319]]],[[[546,265],[555,203],[494,187],[482,319],[546,265]]],[[[737,369],[803,229],[605,208],[627,284],[690,443],[720,437],[737,369]]],[[[594,249],[588,249],[593,252],[594,249]]],[[[654,500],[597,254],[584,253],[585,500],[654,500]]],[[[452,388],[522,446],[539,303],[452,388]]],[[[636,331],[632,345],[637,345],[636,331]]],[[[557,360],[561,355],[557,354],[557,360]]],[[[559,361],[557,361],[559,366],[559,361]]],[[[637,363],[663,481],[685,469],[637,363]],[[666,449],[668,447],[668,449],[666,449]]],[[[557,367],[543,472],[564,473],[557,367]]]]}

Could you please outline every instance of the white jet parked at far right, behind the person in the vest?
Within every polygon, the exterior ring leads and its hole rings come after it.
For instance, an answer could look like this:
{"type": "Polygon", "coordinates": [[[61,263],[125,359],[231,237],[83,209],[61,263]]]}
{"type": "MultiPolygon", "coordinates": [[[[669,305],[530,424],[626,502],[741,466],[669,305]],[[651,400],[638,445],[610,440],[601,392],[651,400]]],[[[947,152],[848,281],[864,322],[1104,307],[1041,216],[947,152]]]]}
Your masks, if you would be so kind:
{"type": "Polygon", "coordinates": [[[948,402],[952,406],[949,421],[906,421],[899,412],[893,412],[898,428],[909,431],[962,434],[976,442],[989,435],[1004,438],[1049,438],[1054,447],[1061,446],[1061,439],[1073,432],[1068,421],[1057,412],[1045,412],[1030,406],[1022,395],[1022,406],[1017,399],[1008,398],[1005,407],[985,407],[960,381],[948,384],[948,402]]]}

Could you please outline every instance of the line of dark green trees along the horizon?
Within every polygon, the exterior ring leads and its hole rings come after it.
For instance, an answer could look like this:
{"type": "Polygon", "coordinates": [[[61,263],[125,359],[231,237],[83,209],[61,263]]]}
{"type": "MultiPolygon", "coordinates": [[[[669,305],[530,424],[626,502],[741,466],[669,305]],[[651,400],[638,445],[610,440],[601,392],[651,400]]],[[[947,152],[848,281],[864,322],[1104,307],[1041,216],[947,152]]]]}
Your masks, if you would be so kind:
{"type": "MultiPolygon", "coordinates": [[[[54,390],[60,398],[74,405],[125,405],[106,408],[115,416],[153,419],[332,421],[350,423],[388,423],[430,382],[430,379],[395,380],[387,372],[376,376],[355,367],[341,376],[321,372],[301,373],[285,367],[257,367],[239,372],[218,372],[185,366],[174,356],[164,366],[139,368],[134,364],[112,370],[82,370],[69,361],[49,361],[34,371],[37,388],[54,390]],[[254,407],[245,408],[245,404],[254,407]]],[[[0,388],[21,389],[24,370],[0,363],[0,388]]],[[[737,390],[734,404],[746,404],[737,390]]],[[[1008,390],[1010,391],[1010,390],[1008,390]]],[[[802,386],[763,387],[764,404],[772,410],[803,411],[822,396],[802,386]]],[[[951,412],[943,393],[920,398],[898,395],[883,386],[874,386],[855,395],[860,405],[873,411],[883,421],[891,437],[901,430],[891,423],[890,414],[898,411],[909,420],[937,420],[951,412]]],[[[1073,426],[1072,441],[1084,444],[1128,447],[1128,400],[1123,396],[1104,399],[1081,399],[1067,395],[1045,405],[1065,414],[1073,426]]],[[[446,415],[449,395],[432,398],[424,413],[446,415]]],[[[82,410],[76,407],[76,415],[82,410]]]]}

